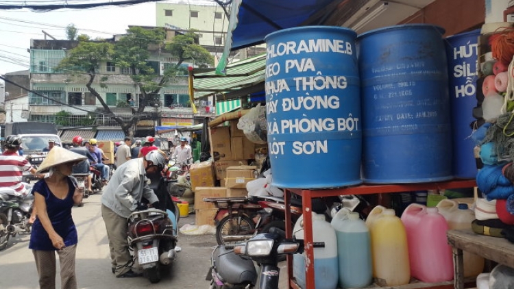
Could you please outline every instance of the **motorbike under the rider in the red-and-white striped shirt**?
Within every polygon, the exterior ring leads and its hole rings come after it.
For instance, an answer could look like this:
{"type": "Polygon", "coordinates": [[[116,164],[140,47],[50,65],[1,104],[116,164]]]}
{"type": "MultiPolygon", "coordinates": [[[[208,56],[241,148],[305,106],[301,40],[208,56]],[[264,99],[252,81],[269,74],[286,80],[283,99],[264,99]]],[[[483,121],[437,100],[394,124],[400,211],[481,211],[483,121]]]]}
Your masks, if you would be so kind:
{"type": "Polygon", "coordinates": [[[7,247],[11,237],[30,232],[33,203],[32,194],[21,196],[12,188],[0,188],[0,250],[7,247]]]}

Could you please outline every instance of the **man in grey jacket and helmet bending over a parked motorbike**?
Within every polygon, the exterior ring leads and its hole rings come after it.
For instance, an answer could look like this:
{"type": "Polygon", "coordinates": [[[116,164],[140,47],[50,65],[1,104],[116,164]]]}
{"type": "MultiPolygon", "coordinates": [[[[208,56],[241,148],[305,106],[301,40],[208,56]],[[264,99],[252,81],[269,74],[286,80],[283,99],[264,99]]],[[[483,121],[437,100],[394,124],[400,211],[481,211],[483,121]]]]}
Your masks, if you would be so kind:
{"type": "Polygon", "coordinates": [[[145,183],[145,175],[160,174],[164,157],[154,151],[145,158],[129,160],[114,171],[108,185],[103,188],[101,216],[109,239],[112,273],[119,278],[138,277],[130,267],[132,257],[128,251],[127,218],[138,209],[143,197],[153,206],[159,199],[145,183]]]}

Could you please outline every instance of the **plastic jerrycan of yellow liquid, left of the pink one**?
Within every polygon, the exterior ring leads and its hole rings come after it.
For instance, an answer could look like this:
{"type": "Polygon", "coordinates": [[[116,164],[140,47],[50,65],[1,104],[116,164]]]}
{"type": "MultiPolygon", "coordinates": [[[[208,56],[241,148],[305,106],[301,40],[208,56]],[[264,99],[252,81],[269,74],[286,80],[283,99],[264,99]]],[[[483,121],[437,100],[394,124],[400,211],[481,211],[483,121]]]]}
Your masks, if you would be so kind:
{"type": "MultiPolygon", "coordinates": [[[[383,208],[383,207],[382,207],[383,208]]],[[[375,210],[375,209],[374,209],[375,210]]],[[[382,210],[379,208],[379,210],[382,210]]],[[[395,210],[384,209],[369,222],[373,272],[380,286],[408,284],[411,274],[405,227],[395,210]]]]}

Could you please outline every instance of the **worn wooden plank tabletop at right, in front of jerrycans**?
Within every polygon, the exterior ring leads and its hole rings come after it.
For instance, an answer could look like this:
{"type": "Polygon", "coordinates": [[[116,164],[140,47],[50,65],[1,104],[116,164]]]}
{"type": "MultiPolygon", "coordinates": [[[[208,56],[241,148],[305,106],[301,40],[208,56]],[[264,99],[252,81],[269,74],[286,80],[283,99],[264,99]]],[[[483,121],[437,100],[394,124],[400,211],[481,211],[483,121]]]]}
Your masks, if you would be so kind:
{"type": "Polygon", "coordinates": [[[454,247],[514,268],[514,244],[505,238],[475,234],[471,229],[450,230],[448,243],[454,247]]]}

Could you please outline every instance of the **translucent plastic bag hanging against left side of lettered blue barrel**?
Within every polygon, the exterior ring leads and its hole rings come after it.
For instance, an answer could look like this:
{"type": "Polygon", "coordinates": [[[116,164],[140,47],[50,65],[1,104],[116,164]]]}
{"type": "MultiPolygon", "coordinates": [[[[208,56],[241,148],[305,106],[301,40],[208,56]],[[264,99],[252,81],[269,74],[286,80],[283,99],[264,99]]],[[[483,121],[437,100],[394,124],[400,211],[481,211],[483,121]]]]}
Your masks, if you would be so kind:
{"type": "Polygon", "coordinates": [[[261,107],[259,103],[239,118],[237,128],[241,129],[250,141],[265,145],[267,143],[266,108],[261,107]]]}

